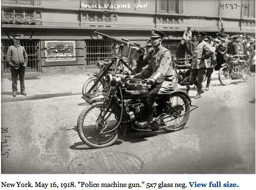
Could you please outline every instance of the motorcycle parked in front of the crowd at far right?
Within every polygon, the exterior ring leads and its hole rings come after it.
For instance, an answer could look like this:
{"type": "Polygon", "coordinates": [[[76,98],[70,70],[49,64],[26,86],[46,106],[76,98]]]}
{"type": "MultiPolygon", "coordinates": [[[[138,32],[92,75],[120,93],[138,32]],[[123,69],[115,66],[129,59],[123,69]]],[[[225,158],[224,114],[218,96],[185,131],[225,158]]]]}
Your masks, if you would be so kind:
{"type": "Polygon", "coordinates": [[[232,80],[242,79],[248,82],[250,64],[244,59],[246,55],[224,55],[226,63],[221,64],[219,80],[223,85],[229,85],[232,80]]]}

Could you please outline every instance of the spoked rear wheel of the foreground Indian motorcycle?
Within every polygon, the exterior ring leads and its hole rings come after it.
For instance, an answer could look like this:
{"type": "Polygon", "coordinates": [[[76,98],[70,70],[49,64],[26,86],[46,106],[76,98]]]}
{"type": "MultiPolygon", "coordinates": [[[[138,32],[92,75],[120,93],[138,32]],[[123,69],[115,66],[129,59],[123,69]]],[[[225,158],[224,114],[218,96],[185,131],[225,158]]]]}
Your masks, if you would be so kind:
{"type": "Polygon", "coordinates": [[[188,112],[190,110],[190,102],[182,94],[171,94],[167,105],[169,107],[169,111],[166,113],[167,116],[163,118],[163,125],[166,126],[163,127],[163,129],[169,132],[180,130],[188,121],[190,114],[190,112],[188,112]],[[170,106],[175,111],[170,109],[170,106]]]}

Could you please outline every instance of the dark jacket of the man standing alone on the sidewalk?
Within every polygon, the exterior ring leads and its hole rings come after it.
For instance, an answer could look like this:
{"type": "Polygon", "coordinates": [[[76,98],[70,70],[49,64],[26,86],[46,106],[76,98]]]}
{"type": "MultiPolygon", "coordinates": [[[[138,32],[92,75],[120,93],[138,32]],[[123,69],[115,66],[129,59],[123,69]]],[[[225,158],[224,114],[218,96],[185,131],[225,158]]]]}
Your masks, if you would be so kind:
{"type": "Polygon", "coordinates": [[[20,45],[9,46],[6,53],[6,61],[15,69],[18,69],[20,64],[27,66],[28,58],[25,48],[20,45]]]}

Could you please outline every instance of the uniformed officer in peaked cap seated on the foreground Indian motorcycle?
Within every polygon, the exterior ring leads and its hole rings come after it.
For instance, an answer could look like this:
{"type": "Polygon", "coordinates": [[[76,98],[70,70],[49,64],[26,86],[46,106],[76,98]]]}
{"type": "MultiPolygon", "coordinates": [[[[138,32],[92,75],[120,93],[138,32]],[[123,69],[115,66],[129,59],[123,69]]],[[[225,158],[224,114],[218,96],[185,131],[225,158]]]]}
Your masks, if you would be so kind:
{"type": "Polygon", "coordinates": [[[143,55],[139,58],[138,63],[148,63],[148,67],[141,73],[136,74],[135,78],[147,79],[147,83],[154,86],[148,95],[148,115],[146,122],[135,122],[140,128],[149,128],[156,110],[156,100],[159,94],[177,88],[175,73],[171,67],[171,53],[164,48],[162,40],[165,34],[158,30],[153,30],[151,33],[151,43],[154,52],[150,61],[143,60],[143,55]]]}

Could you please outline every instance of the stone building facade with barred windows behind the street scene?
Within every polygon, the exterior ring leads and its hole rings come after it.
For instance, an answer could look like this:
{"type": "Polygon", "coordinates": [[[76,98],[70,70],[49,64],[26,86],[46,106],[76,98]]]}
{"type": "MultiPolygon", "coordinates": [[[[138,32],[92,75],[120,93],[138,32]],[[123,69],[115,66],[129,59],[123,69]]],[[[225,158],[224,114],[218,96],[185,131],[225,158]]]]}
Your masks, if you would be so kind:
{"type": "Polygon", "coordinates": [[[190,26],[212,37],[255,34],[255,0],[1,0],[1,70],[11,35],[21,34],[29,56],[26,72],[84,72],[111,57],[112,43],[95,30],[144,46],[152,29],[165,33],[174,55],[190,26]]]}

